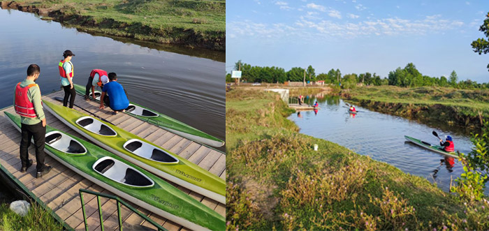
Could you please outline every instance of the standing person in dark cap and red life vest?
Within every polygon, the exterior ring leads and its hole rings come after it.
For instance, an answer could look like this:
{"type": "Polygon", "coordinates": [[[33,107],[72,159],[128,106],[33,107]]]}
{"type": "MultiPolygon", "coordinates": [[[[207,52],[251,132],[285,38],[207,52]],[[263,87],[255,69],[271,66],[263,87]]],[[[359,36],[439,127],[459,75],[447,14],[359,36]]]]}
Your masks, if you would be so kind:
{"type": "Polygon", "coordinates": [[[74,68],[71,63],[71,57],[75,56],[71,50],[65,50],[63,53],[64,59],[59,61],[59,75],[61,75],[61,86],[64,89],[63,106],[68,105],[68,98],[70,100],[70,108],[73,108],[75,103],[76,91],[73,87],[74,68]]]}

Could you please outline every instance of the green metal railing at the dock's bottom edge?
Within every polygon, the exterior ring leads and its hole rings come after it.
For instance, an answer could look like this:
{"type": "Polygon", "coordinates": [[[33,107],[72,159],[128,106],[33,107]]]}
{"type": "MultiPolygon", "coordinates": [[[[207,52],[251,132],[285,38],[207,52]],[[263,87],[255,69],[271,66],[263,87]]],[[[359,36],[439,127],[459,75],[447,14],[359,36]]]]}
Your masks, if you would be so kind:
{"type": "Polygon", "coordinates": [[[121,216],[121,204],[123,204],[125,207],[133,211],[134,213],[138,214],[141,218],[145,219],[147,222],[151,223],[156,227],[158,230],[165,230],[165,228],[161,227],[158,223],[154,222],[151,218],[145,216],[145,214],[142,214],[140,211],[137,209],[134,209],[130,204],[127,202],[124,202],[124,200],[121,200],[115,195],[108,195],[104,193],[97,193],[94,191],[88,191],[86,189],[80,188],[80,200],[82,202],[82,211],[83,211],[83,222],[85,223],[85,230],[88,231],[88,224],[87,224],[87,215],[85,214],[85,202],[83,202],[83,194],[82,193],[88,193],[92,195],[96,195],[97,198],[97,203],[98,203],[98,216],[100,217],[100,227],[101,230],[103,231],[103,218],[102,218],[102,206],[100,204],[100,197],[103,198],[109,198],[117,201],[117,216],[119,217],[119,230],[122,231],[122,216],[121,216]]]}

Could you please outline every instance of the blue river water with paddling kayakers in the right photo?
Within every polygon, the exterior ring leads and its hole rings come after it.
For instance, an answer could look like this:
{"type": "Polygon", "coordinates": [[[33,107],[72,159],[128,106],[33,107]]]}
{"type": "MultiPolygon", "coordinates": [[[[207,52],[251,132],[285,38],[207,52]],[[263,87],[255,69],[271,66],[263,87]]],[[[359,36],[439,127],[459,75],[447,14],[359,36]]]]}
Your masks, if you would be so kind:
{"type": "Polygon", "coordinates": [[[439,144],[432,135],[432,131],[437,131],[441,138],[453,137],[455,150],[467,154],[473,147],[469,136],[459,131],[441,130],[435,125],[419,124],[363,107],[356,107],[358,114],[349,114],[349,108],[339,96],[319,94],[308,98],[306,103],[312,105],[315,100],[320,107],[317,113],[304,111],[289,117],[299,126],[300,133],[335,142],[358,154],[394,165],[403,172],[435,182],[444,191],[449,190],[451,177],[455,180],[463,172],[462,164],[455,159],[453,167],[446,165],[444,155],[406,142],[404,135],[439,144]]]}

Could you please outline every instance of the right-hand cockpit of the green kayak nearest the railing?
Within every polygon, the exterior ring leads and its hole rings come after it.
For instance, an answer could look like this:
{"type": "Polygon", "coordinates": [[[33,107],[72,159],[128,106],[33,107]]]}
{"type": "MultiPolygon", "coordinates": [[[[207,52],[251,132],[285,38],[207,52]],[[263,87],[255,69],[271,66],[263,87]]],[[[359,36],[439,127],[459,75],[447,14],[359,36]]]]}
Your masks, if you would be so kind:
{"type": "Polygon", "coordinates": [[[104,177],[120,184],[138,188],[154,186],[154,181],[145,174],[109,156],[98,159],[92,168],[104,177]]]}

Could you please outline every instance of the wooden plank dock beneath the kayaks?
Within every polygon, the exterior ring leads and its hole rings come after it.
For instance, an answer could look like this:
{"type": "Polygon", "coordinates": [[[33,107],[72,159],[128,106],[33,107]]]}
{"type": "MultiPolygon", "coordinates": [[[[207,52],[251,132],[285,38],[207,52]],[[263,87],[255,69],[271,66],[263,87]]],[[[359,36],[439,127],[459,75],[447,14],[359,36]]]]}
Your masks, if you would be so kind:
{"type": "MultiPolygon", "coordinates": [[[[61,104],[59,101],[54,100],[54,97],[63,97],[63,91],[56,91],[52,94],[43,96],[43,100],[48,100],[54,103],[61,104]]],[[[159,145],[165,149],[172,151],[174,154],[186,158],[189,161],[198,164],[205,170],[209,170],[213,174],[225,179],[226,177],[226,155],[205,147],[201,144],[187,140],[183,137],[170,133],[162,128],[149,124],[135,117],[131,117],[125,113],[119,113],[112,115],[112,111],[109,109],[98,110],[98,103],[94,101],[85,101],[82,96],[77,95],[75,98],[75,105],[84,107],[89,112],[96,114],[98,117],[107,119],[119,128],[123,128],[133,134],[143,137],[156,145],[159,145]]],[[[75,110],[83,112],[78,107],[73,107],[75,110]]],[[[54,160],[51,156],[46,154],[45,163],[52,166],[52,170],[44,177],[36,179],[36,163],[33,167],[30,167],[27,172],[20,172],[20,157],[19,157],[19,144],[20,144],[20,132],[15,129],[3,112],[10,112],[15,114],[13,107],[6,107],[0,110],[0,165],[2,165],[10,174],[17,178],[29,191],[34,193],[37,198],[44,202],[52,211],[54,211],[59,218],[64,220],[71,228],[75,230],[85,230],[83,223],[83,215],[81,209],[80,195],[78,193],[80,188],[85,188],[89,191],[96,191],[100,193],[107,193],[113,195],[109,191],[105,190],[101,186],[98,186],[92,181],[85,179],[84,177],[76,174],[72,170],[68,169],[58,161],[54,160]]],[[[65,124],[54,117],[50,112],[44,110],[48,125],[57,128],[71,135],[82,138],[85,137],[76,133],[71,128],[68,128],[65,124]]],[[[83,112],[86,113],[86,112],[83,112]]],[[[34,145],[29,147],[29,158],[36,161],[34,145]]],[[[173,184],[173,183],[172,183],[173,184]]],[[[177,186],[173,184],[173,186],[177,186]]],[[[193,198],[202,202],[207,207],[214,209],[222,216],[226,216],[226,205],[216,202],[210,198],[205,198],[198,193],[189,191],[186,188],[177,186],[185,193],[189,193],[193,198]]],[[[85,211],[87,213],[87,223],[89,230],[101,230],[100,221],[98,218],[98,206],[97,201],[94,199],[94,195],[84,195],[85,211]]],[[[105,230],[117,230],[119,228],[117,205],[114,200],[108,200],[101,198],[102,211],[103,211],[103,226],[105,230]]],[[[129,203],[131,204],[131,203],[129,203]]],[[[152,218],[156,223],[159,223],[168,230],[188,230],[169,221],[166,218],[152,214],[151,212],[138,207],[137,204],[131,204],[133,207],[143,212],[149,218],[152,218]]],[[[122,218],[124,219],[124,230],[152,230],[153,225],[145,222],[143,218],[140,218],[137,214],[131,210],[122,207],[122,218]]],[[[224,229],[224,227],[223,227],[224,229]]]]}

